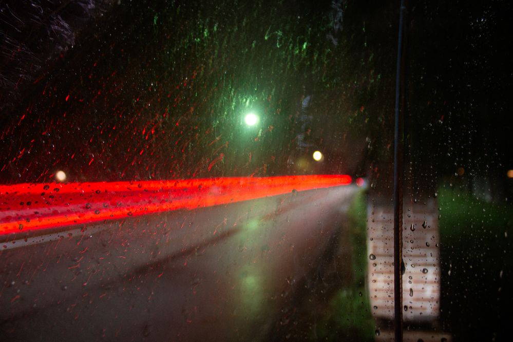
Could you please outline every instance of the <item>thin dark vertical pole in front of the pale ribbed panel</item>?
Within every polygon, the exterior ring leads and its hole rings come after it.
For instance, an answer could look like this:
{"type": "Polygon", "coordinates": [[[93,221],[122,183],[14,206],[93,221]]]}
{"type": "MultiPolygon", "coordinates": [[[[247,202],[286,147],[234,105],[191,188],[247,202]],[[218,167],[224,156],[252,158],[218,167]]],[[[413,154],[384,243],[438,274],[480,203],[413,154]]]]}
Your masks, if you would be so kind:
{"type": "Polygon", "coordinates": [[[401,60],[403,52],[404,0],[399,11],[399,38],[395,77],[395,124],[394,124],[394,328],[395,341],[403,341],[403,132],[401,112],[401,60]]]}

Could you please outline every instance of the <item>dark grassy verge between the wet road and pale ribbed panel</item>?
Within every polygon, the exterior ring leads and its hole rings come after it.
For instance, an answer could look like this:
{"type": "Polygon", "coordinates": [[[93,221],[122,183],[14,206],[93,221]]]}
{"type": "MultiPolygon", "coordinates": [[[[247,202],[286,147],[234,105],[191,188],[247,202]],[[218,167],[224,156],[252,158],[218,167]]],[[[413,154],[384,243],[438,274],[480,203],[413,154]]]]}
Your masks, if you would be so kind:
{"type": "Polygon", "coordinates": [[[269,340],[374,340],[366,285],[366,220],[367,194],[360,190],[317,267],[297,287],[293,305],[281,310],[269,340]]]}

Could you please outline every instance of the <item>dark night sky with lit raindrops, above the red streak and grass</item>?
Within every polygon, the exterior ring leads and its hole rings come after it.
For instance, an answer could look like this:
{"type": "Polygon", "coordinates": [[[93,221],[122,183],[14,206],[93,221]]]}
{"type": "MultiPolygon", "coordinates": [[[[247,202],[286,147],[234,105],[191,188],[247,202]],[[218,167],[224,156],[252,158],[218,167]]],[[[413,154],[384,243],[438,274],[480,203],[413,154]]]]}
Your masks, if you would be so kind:
{"type": "MultiPolygon", "coordinates": [[[[510,7],[408,3],[416,179],[512,167],[510,7]]],[[[396,4],[7,2],[2,18],[4,183],[60,169],[78,181],[368,175],[392,160],[396,4]]]]}

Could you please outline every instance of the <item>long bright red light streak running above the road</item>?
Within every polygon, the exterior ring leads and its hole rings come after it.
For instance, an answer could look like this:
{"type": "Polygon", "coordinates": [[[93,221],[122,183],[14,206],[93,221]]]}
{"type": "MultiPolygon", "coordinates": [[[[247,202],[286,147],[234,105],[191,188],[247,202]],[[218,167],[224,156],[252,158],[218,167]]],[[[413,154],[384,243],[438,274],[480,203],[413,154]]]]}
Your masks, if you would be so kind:
{"type": "Polygon", "coordinates": [[[193,210],[351,183],[347,175],[0,185],[0,235],[193,210]]]}

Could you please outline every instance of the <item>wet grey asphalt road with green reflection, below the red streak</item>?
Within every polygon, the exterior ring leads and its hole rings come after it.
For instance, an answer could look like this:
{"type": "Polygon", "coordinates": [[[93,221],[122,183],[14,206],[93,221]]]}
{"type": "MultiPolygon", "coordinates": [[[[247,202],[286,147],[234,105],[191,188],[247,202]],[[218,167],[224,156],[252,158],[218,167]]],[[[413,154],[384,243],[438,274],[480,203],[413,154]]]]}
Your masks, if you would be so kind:
{"type": "Polygon", "coordinates": [[[355,192],[293,192],[11,241],[0,258],[2,339],[267,339],[344,235],[355,192]]]}

